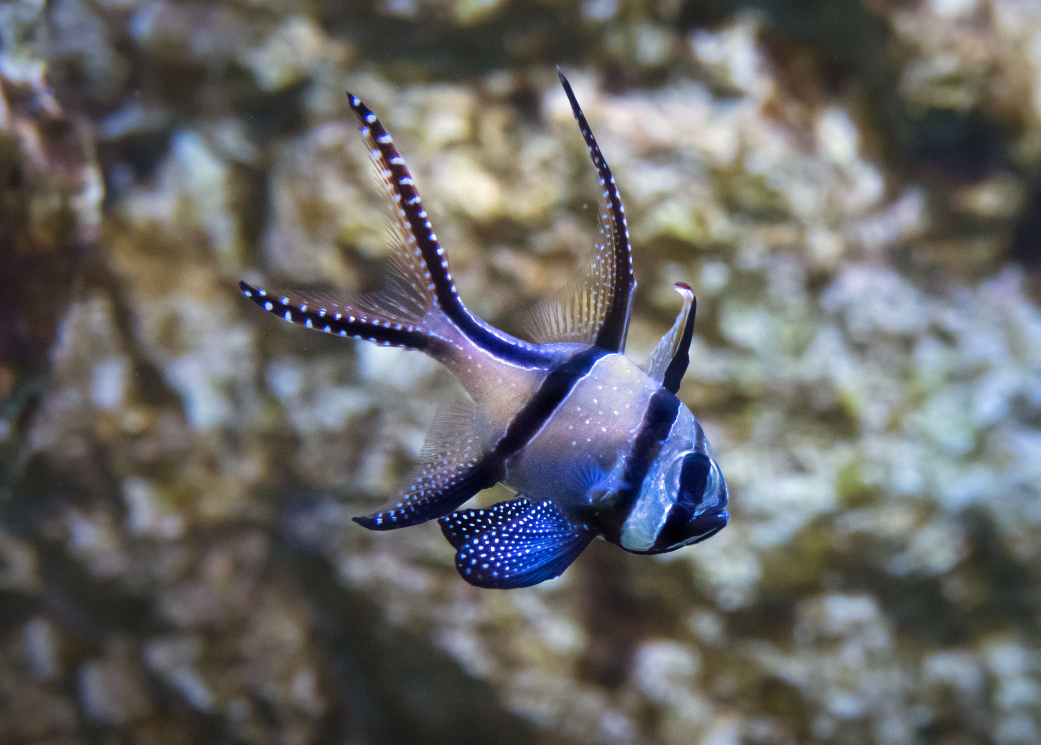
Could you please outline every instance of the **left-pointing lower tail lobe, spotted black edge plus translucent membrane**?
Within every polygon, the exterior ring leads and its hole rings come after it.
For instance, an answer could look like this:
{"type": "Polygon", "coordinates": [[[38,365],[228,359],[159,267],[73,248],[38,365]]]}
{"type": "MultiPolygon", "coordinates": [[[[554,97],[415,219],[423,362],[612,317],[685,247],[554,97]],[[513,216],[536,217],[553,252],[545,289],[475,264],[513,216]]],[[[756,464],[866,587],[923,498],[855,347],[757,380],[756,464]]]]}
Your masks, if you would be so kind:
{"type": "Polygon", "coordinates": [[[420,301],[407,293],[402,296],[404,300],[380,294],[345,303],[329,294],[275,292],[247,282],[239,282],[238,287],[269,313],[308,329],[384,346],[427,350],[431,344],[422,308],[409,305],[420,301]]]}

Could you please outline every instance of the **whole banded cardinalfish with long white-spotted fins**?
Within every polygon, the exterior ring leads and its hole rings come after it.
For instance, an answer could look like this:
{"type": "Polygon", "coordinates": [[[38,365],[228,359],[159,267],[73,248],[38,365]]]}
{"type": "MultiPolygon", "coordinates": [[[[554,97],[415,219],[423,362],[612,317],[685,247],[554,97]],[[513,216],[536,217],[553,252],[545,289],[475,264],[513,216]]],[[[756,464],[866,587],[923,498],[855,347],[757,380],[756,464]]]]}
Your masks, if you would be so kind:
{"type": "Polygon", "coordinates": [[[676,285],[679,317],[642,366],[631,362],[624,353],[636,280],[626,212],[572,86],[563,75],[560,82],[600,177],[600,234],[566,300],[535,308],[534,341],[463,305],[405,161],[354,96],[351,109],[392,215],[386,287],[344,303],[240,283],[247,298],[285,320],[421,350],[459,380],[468,396],[438,410],[402,494],[354,519],[388,531],[438,518],[456,568],[478,587],[559,576],[596,536],[633,554],[662,554],[705,540],[728,520],[719,466],[676,396],[689,361],[693,292],[676,285]],[[498,482],[516,498],[453,512],[498,482]]]}

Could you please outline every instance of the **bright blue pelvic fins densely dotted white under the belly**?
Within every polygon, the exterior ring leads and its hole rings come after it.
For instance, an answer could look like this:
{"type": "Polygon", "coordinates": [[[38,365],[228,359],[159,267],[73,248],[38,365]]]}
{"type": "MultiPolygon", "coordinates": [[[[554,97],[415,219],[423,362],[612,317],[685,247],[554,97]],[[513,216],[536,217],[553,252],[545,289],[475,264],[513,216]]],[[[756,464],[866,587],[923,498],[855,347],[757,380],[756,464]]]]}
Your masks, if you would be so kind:
{"type": "Polygon", "coordinates": [[[441,518],[445,536],[458,548],[456,569],[471,585],[512,590],[560,576],[596,535],[587,525],[568,520],[550,500],[528,503],[517,514],[519,502],[527,499],[441,518]],[[467,514],[472,516],[463,519],[461,526],[453,522],[467,514]],[[473,534],[485,523],[486,530],[473,534]],[[456,537],[463,533],[466,539],[457,544],[456,537]]]}

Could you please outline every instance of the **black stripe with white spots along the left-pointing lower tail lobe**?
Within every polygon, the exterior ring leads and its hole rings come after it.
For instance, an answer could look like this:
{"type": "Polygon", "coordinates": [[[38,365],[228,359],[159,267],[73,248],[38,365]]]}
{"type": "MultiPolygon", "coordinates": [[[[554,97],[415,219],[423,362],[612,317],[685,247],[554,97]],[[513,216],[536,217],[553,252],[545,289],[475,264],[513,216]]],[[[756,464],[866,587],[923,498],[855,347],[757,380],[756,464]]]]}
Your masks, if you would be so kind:
{"type": "Polygon", "coordinates": [[[278,297],[248,282],[239,282],[238,288],[249,300],[269,313],[280,316],[293,324],[327,334],[351,339],[363,339],[384,346],[404,346],[409,350],[434,351],[438,339],[428,336],[412,325],[391,323],[372,318],[356,309],[333,309],[296,305],[288,298],[278,297]]]}

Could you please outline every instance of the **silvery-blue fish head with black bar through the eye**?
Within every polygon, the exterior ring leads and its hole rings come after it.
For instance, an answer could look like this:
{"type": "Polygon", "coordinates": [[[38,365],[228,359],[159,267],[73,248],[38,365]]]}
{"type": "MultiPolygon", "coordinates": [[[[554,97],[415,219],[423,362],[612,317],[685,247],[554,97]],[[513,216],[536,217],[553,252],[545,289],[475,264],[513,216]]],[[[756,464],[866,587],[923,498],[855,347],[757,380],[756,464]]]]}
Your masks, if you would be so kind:
{"type": "Polygon", "coordinates": [[[705,432],[681,404],[615,542],[633,554],[665,554],[704,541],[727,526],[727,482],[705,432]]]}

